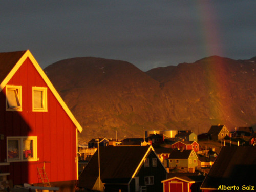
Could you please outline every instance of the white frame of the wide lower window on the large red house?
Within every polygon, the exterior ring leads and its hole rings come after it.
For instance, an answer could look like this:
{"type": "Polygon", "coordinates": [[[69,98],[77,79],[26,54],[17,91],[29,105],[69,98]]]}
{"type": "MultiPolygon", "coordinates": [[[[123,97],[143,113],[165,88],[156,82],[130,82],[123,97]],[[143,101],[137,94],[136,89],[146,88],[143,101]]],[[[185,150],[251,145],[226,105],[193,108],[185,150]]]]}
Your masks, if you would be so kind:
{"type": "Polygon", "coordinates": [[[37,136],[22,136],[22,137],[6,137],[7,142],[7,150],[6,150],[6,157],[7,162],[21,162],[21,161],[37,161],[37,136]],[[23,140],[33,140],[33,157],[24,159],[23,158],[23,140]],[[18,141],[18,158],[10,159],[8,156],[8,141],[17,140],[18,141]]]}

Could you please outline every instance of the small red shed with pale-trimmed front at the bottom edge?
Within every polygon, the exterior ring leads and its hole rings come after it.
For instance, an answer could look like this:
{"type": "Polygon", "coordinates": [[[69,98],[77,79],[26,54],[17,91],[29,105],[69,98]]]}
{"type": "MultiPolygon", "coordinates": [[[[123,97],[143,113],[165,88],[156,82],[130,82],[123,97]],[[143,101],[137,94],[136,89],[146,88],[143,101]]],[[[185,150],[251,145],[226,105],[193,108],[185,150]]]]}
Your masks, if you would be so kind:
{"type": "Polygon", "coordinates": [[[199,191],[204,176],[172,177],[162,181],[164,192],[196,192],[199,191]]]}

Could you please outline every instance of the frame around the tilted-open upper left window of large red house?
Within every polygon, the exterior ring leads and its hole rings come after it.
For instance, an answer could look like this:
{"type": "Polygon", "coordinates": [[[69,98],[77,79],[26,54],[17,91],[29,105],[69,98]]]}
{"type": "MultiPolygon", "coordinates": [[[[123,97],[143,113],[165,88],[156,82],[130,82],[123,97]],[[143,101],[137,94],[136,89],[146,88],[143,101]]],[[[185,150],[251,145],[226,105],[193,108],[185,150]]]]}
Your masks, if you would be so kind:
{"type": "Polygon", "coordinates": [[[22,86],[6,85],[6,111],[22,111],[22,86]],[[16,99],[19,102],[17,106],[9,106],[8,104],[8,90],[15,90],[16,99]]]}

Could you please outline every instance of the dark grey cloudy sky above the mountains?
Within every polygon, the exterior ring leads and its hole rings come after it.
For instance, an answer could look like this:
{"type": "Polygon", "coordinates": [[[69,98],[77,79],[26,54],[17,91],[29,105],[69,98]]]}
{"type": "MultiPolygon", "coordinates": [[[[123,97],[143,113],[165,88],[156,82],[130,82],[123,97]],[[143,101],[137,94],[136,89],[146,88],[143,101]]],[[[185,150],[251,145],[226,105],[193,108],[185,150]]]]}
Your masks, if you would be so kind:
{"type": "Polygon", "coordinates": [[[143,71],[256,56],[256,1],[0,1],[0,52],[125,60],[143,71]]]}

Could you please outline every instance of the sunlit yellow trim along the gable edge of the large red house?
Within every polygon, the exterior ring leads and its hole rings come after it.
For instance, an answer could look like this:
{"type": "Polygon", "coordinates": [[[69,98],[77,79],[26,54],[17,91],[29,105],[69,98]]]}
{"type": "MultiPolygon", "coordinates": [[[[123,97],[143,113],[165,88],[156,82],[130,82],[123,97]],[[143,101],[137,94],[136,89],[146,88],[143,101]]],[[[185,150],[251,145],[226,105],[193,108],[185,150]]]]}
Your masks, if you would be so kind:
{"type": "Polygon", "coordinates": [[[53,95],[58,100],[59,104],[62,106],[63,110],[68,114],[72,122],[75,124],[77,130],[81,133],[82,127],[74,117],[74,115],[71,113],[70,109],[66,105],[66,103],[62,100],[56,89],[53,87],[53,84],[49,80],[49,78],[46,76],[44,70],[39,66],[33,55],[29,50],[27,50],[24,55],[18,60],[16,65],[13,67],[13,69],[10,71],[10,73],[6,76],[6,78],[1,82],[0,84],[0,92],[3,90],[3,88],[6,86],[6,84],[9,82],[9,80],[12,78],[12,76],[17,72],[17,70],[20,68],[20,66],[23,64],[23,62],[29,58],[31,62],[33,63],[35,69],[38,71],[38,73],[41,75],[42,79],[46,82],[49,89],[52,91],[53,95]]]}

